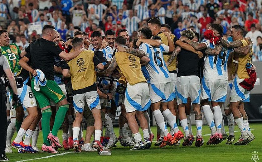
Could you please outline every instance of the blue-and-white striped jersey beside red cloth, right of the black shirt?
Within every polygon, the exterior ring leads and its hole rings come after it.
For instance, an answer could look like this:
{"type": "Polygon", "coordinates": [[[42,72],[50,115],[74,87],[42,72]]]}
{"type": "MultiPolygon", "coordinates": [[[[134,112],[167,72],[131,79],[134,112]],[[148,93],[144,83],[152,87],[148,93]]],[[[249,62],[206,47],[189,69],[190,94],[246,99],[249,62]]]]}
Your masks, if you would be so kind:
{"type": "MultiPolygon", "coordinates": [[[[229,41],[228,41],[229,42],[229,41]]],[[[207,48],[215,48],[209,40],[204,40],[207,48]]],[[[219,55],[206,55],[203,76],[205,78],[227,80],[227,60],[232,48],[223,47],[219,55]]]]}

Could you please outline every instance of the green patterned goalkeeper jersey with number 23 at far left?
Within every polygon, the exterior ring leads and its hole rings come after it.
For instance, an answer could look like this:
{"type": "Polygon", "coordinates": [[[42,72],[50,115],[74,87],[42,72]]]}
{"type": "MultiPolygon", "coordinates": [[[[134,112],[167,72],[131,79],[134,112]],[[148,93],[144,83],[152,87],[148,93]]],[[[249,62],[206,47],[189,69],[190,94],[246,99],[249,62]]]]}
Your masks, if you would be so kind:
{"type": "Polygon", "coordinates": [[[18,64],[20,60],[21,50],[14,43],[8,46],[1,46],[1,49],[2,49],[2,55],[6,56],[9,62],[12,73],[15,76],[18,76],[22,70],[22,67],[18,64]]]}

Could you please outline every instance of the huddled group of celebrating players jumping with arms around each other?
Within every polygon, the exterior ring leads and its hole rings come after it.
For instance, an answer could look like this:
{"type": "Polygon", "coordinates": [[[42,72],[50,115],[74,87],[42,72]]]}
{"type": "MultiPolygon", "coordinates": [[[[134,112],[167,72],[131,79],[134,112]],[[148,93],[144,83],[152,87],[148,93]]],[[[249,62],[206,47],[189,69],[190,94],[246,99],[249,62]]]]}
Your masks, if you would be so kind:
{"type": "Polygon", "coordinates": [[[131,43],[132,33],[126,29],[118,33],[109,29],[105,36],[94,31],[90,37],[76,31],[64,42],[54,26],[45,25],[42,37],[22,52],[9,43],[8,32],[0,30],[1,54],[16,78],[19,98],[19,104],[13,105],[14,94],[7,85],[11,123],[6,152],[11,153],[12,146],[19,153],[40,151],[36,146],[40,122],[41,150],[49,153],[58,153],[61,148],[75,152],[112,150],[117,142],[130,150],[149,149],[155,135],[159,147],[180,142],[183,146],[195,142],[201,147],[223,140],[234,145],[253,141],[244,103],[250,100],[256,68],[251,63],[253,43],[244,39],[243,26],[232,26],[233,41],[229,42],[222,36],[223,26],[211,24],[200,42],[199,33],[191,29],[183,30],[178,39],[158,18],[150,19],[147,25],[138,30],[131,43]],[[119,137],[113,127],[117,107],[121,108],[119,137]],[[221,108],[226,113],[229,136],[221,108]],[[153,112],[157,132],[151,131],[148,109],[153,112]],[[211,131],[206,142],[202,138],[203,117],[211,131]],[[236,142],[235,123],[241,132],[236,142]],[[17,136],[11,141],[15,128],[17,136]]]}

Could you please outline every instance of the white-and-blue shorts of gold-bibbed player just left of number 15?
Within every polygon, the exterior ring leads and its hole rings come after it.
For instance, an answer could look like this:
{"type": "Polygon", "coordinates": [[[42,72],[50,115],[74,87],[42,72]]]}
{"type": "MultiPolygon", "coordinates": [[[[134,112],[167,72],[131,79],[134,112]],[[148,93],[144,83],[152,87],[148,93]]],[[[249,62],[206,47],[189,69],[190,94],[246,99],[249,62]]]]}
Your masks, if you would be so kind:
{"type": "Polygon", "coordinates": [[[124,105],[126,112],[147,110],[151,105],[148,83],[127,83],[124,105]]]}

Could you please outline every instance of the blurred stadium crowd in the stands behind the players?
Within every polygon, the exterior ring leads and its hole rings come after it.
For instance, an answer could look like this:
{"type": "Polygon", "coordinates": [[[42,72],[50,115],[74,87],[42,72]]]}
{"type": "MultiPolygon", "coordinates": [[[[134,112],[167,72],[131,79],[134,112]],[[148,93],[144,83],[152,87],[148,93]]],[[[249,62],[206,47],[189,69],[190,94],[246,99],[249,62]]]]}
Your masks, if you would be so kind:
{"type": "Polygon", "coordinates": [[[230,27],[245,26],[246,37],[254,43],[253,61],[262,60],[261,0],[1,0],[0,6],[1,28],[8,30],[10,42],[21,50],[41,37],[30,23],[55,26],[64,41],[78,30],[90,37],[95,30],[103,34],[107,29],[116,33],[127,29],[132,41],[148,18],[158,17],[178,38],[182,30],[190,28],[201,34],[199,41],[211,23],[222,24],[223,35],[230,41],[230,27]]]}

